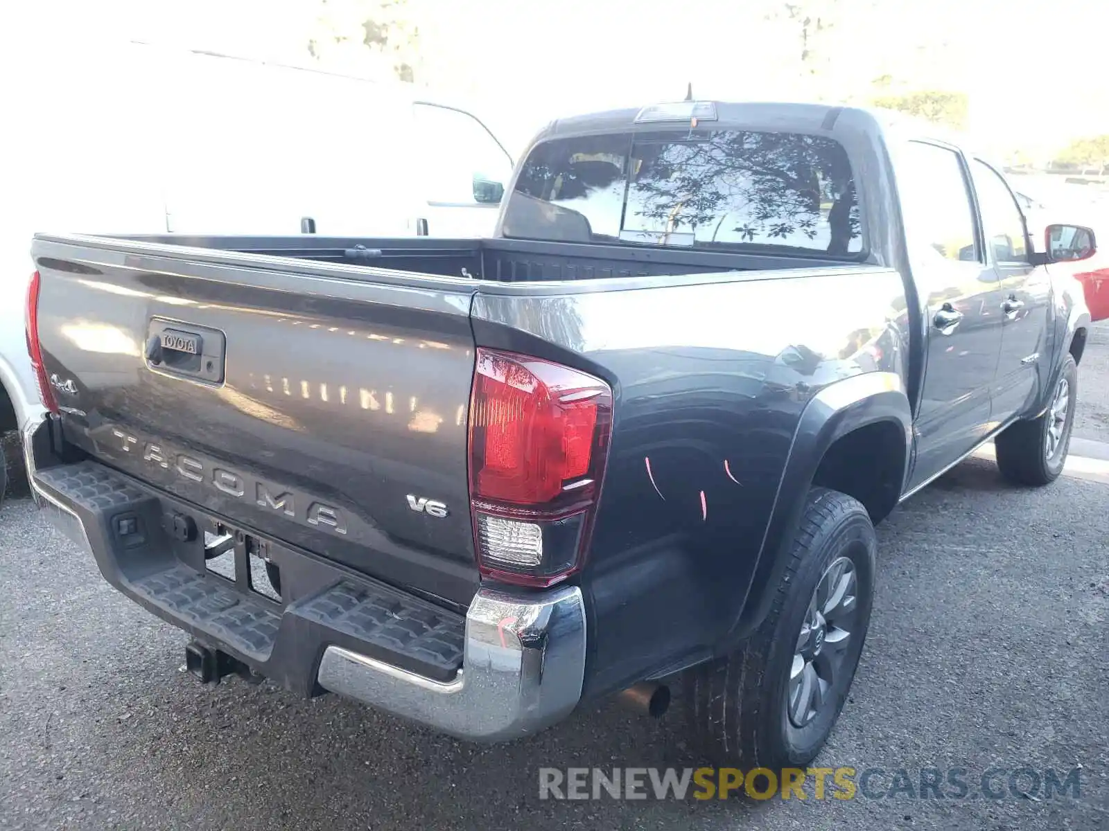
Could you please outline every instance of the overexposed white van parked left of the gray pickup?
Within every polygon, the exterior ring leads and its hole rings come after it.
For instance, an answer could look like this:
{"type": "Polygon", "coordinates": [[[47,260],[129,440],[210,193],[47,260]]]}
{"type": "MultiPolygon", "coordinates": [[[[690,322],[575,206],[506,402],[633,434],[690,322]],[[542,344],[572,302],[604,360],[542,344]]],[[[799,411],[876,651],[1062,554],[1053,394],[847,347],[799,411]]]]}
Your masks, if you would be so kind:
{"type": "Polygon", "coordinates": [[[40,410],[22,301],[35,232],[482,236],[512,170],[474,115],[406,84],[139,43],[18,45],[0,55],[0,433],[40,410]]]}

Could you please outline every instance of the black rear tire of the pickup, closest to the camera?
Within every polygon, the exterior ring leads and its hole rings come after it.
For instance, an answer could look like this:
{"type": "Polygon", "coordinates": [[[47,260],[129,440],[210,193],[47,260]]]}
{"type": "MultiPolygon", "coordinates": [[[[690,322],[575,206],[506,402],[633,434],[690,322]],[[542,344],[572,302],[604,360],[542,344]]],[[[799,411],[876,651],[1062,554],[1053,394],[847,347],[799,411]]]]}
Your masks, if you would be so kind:
{"type": "MultiPolygon", "coordinates": [[[[690,730],[710,760],[780,771],[804,767],[816,757],[847,698],[863,650],[874,598],[876,547],[871,517],[857,500],[824,488],[808,492],[766,619],[732,655],[685,673],[690,730]],[[794,657],[804,639],[802,627],[814,604],[820,607],[816,589],[822,579],[843,558],[855,575],[854,628],[823,705],[811,721],[798,727],[787,695],[794,657]]],[[[834,627],[828,628],[827,639],[822,635],[816,643],[815,661],[821,647],[833,644],[833,632],[834,627]]],[[[841,650],[830,655],[835,659],[841,650]]]]}

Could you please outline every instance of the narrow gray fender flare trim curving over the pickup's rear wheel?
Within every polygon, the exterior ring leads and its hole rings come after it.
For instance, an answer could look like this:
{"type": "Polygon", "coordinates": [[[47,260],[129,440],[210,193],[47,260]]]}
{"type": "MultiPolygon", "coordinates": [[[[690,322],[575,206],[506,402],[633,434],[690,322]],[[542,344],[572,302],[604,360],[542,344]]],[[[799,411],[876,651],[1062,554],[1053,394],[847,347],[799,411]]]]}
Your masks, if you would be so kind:
{"type": "Polygon", "coordinates": [[[905,455],[901,460],[903,486],[912,448],[913,417],[898,375],[867,372],[837,381],[821,390],[805,407],[793,435],[754,578],[729,632],[728,647],[746,637],[766,617],[813,476],[828,448],[847,433],[882,421],[897,424],[905,435],[905,455]]]}

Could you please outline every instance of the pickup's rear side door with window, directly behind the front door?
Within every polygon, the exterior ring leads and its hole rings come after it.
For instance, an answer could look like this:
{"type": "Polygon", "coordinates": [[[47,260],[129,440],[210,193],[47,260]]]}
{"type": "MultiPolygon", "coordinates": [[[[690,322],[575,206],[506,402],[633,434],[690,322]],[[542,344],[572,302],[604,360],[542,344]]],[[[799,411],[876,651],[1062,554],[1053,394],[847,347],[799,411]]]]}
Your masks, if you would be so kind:
{"type": "Polygon", "coordinates": [[[1001,288],[983,252],[963,155],[938,143],[909,142],[896,173],[913,277],[927,315],[913,488],[989,432],[1001,288]]]}

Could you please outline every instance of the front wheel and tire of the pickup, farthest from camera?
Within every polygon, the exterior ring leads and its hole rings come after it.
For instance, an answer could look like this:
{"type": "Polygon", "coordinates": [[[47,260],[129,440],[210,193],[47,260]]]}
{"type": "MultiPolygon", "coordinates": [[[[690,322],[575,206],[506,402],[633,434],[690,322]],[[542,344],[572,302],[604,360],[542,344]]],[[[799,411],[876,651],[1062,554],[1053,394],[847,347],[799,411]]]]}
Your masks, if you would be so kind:
{"type": "Polygon", "coordinates": [[[1078,365],[1071,356],[1062,362],[1062,371],[1051,388],[1047,410],[1038,419],[1018,421],[1006,428],[994,441],[997,466],[1001,475],[1014,484],[1046,485],[1062,473],[1070,449],[1070,431],[1075,427],[1078,404],[1078,365]],[[1066,384],[1066,412],[1058,418],[1058,396],[1066,384]],[[1049,431],[1058,430],[1059,438],[1049,444],[1049,431]]]}

